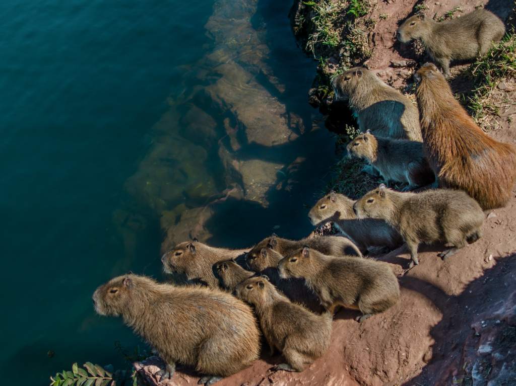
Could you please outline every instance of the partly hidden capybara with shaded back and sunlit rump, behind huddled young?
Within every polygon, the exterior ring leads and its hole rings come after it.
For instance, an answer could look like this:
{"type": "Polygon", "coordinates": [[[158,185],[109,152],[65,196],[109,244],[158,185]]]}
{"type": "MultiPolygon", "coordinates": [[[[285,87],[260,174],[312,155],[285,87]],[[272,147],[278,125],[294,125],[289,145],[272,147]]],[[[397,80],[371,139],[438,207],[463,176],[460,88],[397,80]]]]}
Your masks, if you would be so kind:
{"type": "Polygon", "coordinates": [[[260,266],[251,266],[251,269],[254,271],[261,271],[268,266],[276,266],[279,259],[284,256],[288,256],[293,253],[297,249],[303,246],[309,246],[312,249],[318,250],[320,253],[325,255],[332,256],[341,256],[341,255],[351,255],[351,256],[362,256],[360,249],[354,245],[354,243],[346,237],[343,236],[321,236],[321,237],[312,237],[312,238],[304,238],[301,240],[288,240],[283,239],[281,237],[276,236],[276,234],[272,234],[272,236],[265,238],[256,244],[246,255],[248,264],[252,263],[252,260],[255,260],[260,257],[260,254],[264,254],[265,249],[271,249],[277,252],[276,255],[271,253],[267,253],[267,258],[271,261],[266,265],[260,266]],[[281,255],[281,257],[280,257],[281,255]],[[273,261],[276,259],[278,261],[273,261]]]}

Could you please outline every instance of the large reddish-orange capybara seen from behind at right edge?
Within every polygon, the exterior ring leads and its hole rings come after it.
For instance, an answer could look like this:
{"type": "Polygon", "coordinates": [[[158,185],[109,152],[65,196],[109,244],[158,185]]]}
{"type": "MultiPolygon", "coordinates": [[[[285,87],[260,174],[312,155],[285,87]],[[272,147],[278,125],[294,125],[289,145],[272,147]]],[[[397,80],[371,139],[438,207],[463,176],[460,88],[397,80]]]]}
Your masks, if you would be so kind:
{"type": "Polygon", "coordinates": [[[439,185],[466,191],[483,209],[504,206],[516,179],[516,148],[477,126],[435,65],[426,63],[415,78],[425,154],[439,185]]]}

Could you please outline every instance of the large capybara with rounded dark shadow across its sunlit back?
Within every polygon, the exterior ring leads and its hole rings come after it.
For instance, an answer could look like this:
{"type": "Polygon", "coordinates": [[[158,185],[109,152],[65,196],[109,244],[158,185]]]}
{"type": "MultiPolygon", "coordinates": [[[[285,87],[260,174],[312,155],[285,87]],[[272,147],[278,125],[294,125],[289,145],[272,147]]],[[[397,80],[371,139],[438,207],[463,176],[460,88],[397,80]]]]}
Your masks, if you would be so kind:
{"type": "Polygon", "coordinates": [[[361,131],[370,129],[375,136],[421,142],[417,108],[372,71],[352,68],[336,76],[332,85],[336,100],[349,100],[361,131]]]}

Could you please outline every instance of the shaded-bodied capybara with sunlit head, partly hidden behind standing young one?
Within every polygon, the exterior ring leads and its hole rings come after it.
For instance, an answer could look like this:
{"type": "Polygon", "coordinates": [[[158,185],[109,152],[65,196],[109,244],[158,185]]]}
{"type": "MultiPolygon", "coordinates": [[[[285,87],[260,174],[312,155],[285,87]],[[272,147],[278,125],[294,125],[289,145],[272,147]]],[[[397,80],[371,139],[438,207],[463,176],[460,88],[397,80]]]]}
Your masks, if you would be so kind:
{"type": "Polygon", "coordinates": [[[396,249],[403,239],[396,229],[379,219],[358,219],[353,212],[355,201],[343,194],[330,192],[320,198],[308,213],[314,226],[331,221],[344,236],[366,254],[370,248],[396,249]]]}

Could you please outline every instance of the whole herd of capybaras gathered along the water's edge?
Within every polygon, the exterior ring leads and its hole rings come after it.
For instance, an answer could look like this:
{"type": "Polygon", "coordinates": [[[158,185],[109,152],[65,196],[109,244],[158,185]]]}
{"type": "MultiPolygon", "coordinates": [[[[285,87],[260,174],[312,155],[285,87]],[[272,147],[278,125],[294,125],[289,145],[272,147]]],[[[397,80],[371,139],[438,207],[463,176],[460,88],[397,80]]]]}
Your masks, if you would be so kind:
{"type": "Polygon", "coordinates": [[[340,234],[272,234],[244,249],[186,241],[162,257],[164,271],[185,283],[119,276],[94,292],[96,312],[121,316],[157,351],[166,362],[161,379],[180,363],[211,385],[259,358],[263,343],[284,358],[274,370],[305,370],[330,346],[338,307],[358,311],[363,323],[396,306],[398,279],[373,255],[405,243],[412,268],[421,243],[443,243],[448,249],[438,256],[447,261],[481,238],[483,210],[512,197],[515,147],[486,135],[446,81],[451,60],[485,55],[504,33],[484,9],[441,23],[423,14],[402,23],[397,39],[420,40],[437,64],[414,74],[417,107],[372,70],[356,67],[333,79],[335,99],[348,101],[362,131],[348,155],[385,181],[357,200],[333,191],[318,200],[310,221],[332,222],[340,234]],[[393,183],[406,186],[396,191],[393,183]]]}

